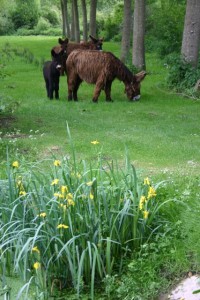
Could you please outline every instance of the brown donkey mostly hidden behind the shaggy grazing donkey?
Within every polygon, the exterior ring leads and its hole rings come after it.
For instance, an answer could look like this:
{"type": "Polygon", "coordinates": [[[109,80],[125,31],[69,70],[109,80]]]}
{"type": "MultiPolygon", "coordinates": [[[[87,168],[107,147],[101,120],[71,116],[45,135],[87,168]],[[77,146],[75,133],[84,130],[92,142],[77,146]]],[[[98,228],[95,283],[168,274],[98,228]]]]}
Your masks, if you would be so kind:
{"type": "Polygon", "coordinates": [[[58,39],[58,43],[60,45],[53,47],[52,50],[54,50],[54,52],[56,53],[60,53],[61,50],[64,51],[62,56],[62,75],[66,73],[66,59],[73,50],[102,50],[103,38],[96,39],[91,35],[89,37],[91,39],[90,41],[80,43],[69,43],[69,40],[67,38],[65,40],[61,38],[58,39]]]}

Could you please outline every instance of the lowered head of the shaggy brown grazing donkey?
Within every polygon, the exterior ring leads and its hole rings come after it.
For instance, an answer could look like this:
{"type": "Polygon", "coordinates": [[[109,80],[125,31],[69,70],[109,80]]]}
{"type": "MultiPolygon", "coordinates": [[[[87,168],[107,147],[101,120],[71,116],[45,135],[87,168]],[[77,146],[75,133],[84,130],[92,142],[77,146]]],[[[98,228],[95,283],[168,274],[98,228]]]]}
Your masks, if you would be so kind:
{"type": "Polygon", "coordinates": [[[133,75],[132,81],[125,85],[125,92],[127,97],[132,101],[139,101],[141,81],[146,76],[145,71],[141,71],[133,75]]]}

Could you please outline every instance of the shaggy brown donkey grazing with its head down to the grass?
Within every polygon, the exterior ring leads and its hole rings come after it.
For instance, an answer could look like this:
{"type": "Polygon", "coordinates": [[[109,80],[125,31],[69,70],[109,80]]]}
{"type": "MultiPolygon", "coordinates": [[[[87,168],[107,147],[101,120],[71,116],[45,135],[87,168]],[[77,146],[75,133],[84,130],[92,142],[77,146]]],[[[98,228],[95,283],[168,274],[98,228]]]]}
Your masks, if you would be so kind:
{"type": "Polygon", "coordinates": [[[140,99],[140,82],[146,76],[141,71],[134,75],[112,53],[95,50],[74,50],[67,58],[67,84],[68,100],[77,101],[77,91],[82,81],[96,84],[93,102],[98,102],[98,97],[103,89],[106,101],[111,99],[111,85],[115,78],[123,81],[128,99],[140,99]]]}

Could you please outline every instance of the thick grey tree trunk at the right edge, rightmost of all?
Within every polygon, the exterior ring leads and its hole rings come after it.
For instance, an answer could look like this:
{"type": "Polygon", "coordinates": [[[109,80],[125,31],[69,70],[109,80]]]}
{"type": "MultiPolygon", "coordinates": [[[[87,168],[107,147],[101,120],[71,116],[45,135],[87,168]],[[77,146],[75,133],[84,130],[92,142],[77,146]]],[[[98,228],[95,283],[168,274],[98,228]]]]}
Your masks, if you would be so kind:
{"type": "Polygon", "coordinates": [[[200,1],[187,0],[181,54],[197,67],[200,42],[200,1]]]}

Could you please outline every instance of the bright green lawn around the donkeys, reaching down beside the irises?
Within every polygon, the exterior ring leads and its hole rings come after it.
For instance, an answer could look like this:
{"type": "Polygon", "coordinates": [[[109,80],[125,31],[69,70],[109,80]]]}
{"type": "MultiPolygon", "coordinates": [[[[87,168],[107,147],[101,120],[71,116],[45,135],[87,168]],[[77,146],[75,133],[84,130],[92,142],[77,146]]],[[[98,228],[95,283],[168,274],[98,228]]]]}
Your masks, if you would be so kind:
{"type": "MultiPolygon", "coordinates": [[[[171,227],[176,228],[174,235],[144,250],[140,265],[132,262],[128,266],[129,275],[122,279],[127,283],[118,295],[125,298],[126,289],[132,285],[138,288],[138,282],[132,282],[135,273],[140,276],[139,284],[146,280],[152,286],[165,279],[162,286],[167,289],[184,272],[198,272],[200,268],[200,235],[194,230],[200,222],[200,101],[167,91],[167,69],[153,54],[146,56],[148,75],[142,82],[139,102],[129,102],[123,83],[117,80],[112,86],[113,103],[105,102],[103,92],[99,103],[92,103],[94,86],[86,83],[79,89],[79,102],[68,102],[66,77],[60,79],[60,100],[50,101],[41,62],[50,59],[50,49],[56,44],[55,37],[0,37],[1,179],[7,176],[7,153],[10,161],[41,162],[44,168],[49,158],[71,157],[67,124],[79,161],[95,163],[101,153],[105,162],[117,160],[122,166],[128,153],[139,174],[154,182],[167,179],[168,198],[182,201],[188,209],[177,206],[170,211],[168,207],[171,227]],[[98,145],[91,144],[95,140],[98,145]],[[152,273],[154,266],[163,270],[163,278],[152,273]]],[[[119,56],[118,44],[105,43],[104,50],[119,56]]],[[[109,295],[118,285],[117,279],[112,279],[107,282],[109,295]]],[[[99,299],[108,299],[108,294],[99,299]]],[[[142,299],[153,299],[145,297],[147,294],[142,299]]]]}

